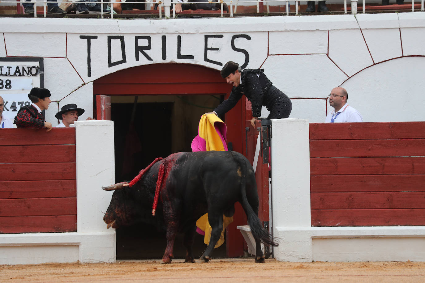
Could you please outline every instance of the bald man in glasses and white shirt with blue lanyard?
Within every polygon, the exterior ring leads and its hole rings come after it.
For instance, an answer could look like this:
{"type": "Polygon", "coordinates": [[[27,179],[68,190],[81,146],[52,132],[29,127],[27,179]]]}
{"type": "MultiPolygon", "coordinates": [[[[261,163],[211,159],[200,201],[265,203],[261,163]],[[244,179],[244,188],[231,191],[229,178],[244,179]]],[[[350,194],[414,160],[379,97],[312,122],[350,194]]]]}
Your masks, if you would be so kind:
{"type": "Polygon", "coordinates": [[[360,112],[348,105],[348,93],[344,88],[335,87],[328,96],[334,110],[326,116],[325,123],[363,122],[360,112]]]}

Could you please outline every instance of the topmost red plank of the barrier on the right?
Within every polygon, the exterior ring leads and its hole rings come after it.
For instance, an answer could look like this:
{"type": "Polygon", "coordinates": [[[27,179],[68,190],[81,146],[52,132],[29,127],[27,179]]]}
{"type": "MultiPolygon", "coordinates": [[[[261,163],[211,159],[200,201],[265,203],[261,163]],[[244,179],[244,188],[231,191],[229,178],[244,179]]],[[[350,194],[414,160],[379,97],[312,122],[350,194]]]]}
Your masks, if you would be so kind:
{"type": "Polygon", "coordinates": [[[310,140],[423,139],[425,122],[310,123],[310,140]]]}

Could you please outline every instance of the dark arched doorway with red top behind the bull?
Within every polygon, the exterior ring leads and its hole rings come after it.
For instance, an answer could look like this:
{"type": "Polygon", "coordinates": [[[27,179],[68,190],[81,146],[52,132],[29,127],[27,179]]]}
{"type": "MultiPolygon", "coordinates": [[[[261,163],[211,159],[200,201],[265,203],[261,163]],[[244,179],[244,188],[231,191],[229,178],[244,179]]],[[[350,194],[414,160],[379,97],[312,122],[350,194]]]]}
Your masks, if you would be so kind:
{"type": "MultiPolygon", "coordinates": [[[[111,73],[95,80],[93,89],[95,101],[96,95],[111,97],[111,118],[115,122],[116,181],[119,182],[134,177],[156,157],[191,151],[190,142],[197,134],[199,118],[223,101],[231,86],[221,78],[218,70],[173,63],[142,65],[111,73]]],[[[94,112],[99,113],[100,109],[94,109],[94,112]]],[[[228,121],[228,143],[232,143],[233,150],[243,152],[245,101],[240,101],[224,120],[228,121]]],[[[217,255],[243,255],[244,241],[236,229],[237,225],[244,224],[243,212],[239,205],[236,207],[235,221],[227,230],[226,247],[221,253],[215,252],[217,255]]],[[[137,255],[135,249],[138,246],[135,243],[142,242],[139,237],[123,235],[146,233],[146,229],[139,229],[117,230],[117,258],[145,258],[137,255]],[[121,245],[127,246],[123,256],[119,254],[121,245]]],[[[147,227],[147,230],[152,230],[145,239],[150,241],[149,247],[156,245],[157,238],[164,238],[158,236],[153,227],[147,227]]],[[[148,258],[161,258],[165,245],[160,243],[158,251],[145,253],[148,258]]],[[[184,258],[177,249],[179,245],[180,242],[176,241],[175,256],[184,258]]],[[[206,246],[201,244],[199,247],[204,249],[206,246]]]]}

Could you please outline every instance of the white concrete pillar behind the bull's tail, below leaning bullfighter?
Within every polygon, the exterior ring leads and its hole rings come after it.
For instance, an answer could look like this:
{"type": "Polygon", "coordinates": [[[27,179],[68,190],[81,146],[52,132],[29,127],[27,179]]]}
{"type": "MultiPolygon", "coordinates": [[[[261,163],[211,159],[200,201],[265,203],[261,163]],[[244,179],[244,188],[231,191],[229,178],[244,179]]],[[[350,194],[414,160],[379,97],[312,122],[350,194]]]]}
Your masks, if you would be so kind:
{"type": "Polygon", "coordinates": [[[310,150],[308,119],[272,120],[273,235],[279,261],[311,261],[310,150]],[[285,233],[291,227],[306,233],[285,233]]]}

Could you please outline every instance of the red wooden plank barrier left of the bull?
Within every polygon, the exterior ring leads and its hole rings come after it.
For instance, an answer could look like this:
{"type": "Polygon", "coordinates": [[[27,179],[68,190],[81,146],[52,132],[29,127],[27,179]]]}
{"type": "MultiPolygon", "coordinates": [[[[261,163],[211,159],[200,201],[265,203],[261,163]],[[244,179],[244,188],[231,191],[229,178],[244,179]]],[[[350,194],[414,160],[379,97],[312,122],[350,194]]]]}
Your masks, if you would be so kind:
{"type": "Polygon", "coordinates": [[[75,128],[0,133],[0,233],[77,231],[75,128]]]}

